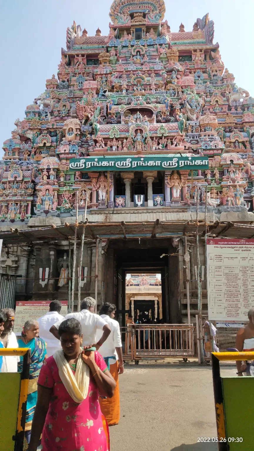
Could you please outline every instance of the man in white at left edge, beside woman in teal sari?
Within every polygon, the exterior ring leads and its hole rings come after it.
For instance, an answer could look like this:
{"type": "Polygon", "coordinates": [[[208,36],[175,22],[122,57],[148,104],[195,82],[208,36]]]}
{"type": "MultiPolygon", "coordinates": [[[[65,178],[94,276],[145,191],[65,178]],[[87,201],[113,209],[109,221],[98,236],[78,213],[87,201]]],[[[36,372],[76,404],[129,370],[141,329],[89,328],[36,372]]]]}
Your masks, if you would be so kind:
{"type": "MultiPolygon", "coordinates": [[[[0,341],[5,348],[18,348],[18,341],[14,334],[13,326],[15,321],[15,312],[12,308],[4,308],[3,312],[7,316],[7,321],[4,323],[4,331],[0,335],[0,341]]],[[[3,364],[1,373],[17,373],[19,357],[3,356],[3,364]]]]}

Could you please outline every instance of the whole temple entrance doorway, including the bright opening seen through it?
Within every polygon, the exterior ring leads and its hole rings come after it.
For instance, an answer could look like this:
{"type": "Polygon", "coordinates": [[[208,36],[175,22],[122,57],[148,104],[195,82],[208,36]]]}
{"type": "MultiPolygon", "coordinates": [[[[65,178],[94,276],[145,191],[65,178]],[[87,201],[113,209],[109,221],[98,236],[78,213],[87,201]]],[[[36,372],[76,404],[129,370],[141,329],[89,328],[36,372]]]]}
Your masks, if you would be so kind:
{"type": "MultiPolygon", "coordinates": [[[[122,327],[133,322],[181,323],[179,258],[169,239],[112,239],[106,250],[105,296],[122,327]]],[[[106,301],[107,302],[107,301],[106,301]]]]}

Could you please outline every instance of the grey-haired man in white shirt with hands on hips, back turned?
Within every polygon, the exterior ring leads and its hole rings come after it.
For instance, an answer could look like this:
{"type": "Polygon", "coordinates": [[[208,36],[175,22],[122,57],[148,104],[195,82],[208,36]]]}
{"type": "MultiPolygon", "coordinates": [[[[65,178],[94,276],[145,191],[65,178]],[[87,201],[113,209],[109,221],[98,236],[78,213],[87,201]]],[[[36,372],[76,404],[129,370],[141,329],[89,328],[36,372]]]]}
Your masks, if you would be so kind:
{"type": "Polygon", "coordinates": [[[61,321],[56,322],[54,326],[50,328],[50,332],[59,340],[60,337],[58,334],[58,328],[61,322],[68,318],[75,318],[81,324],[83,334],[83,346],[85,347],[94,346],[98,350],[100,346],[104,343],[104,341],[107,340],[111,332],[111,329],[106,323],[106,321],[103,320],[103,318],[94,313],[95,304],[96,304],[95,299],[91,297],[85,298],[81,302],[81,312],[68,313],[68,315],[66,315],[65,318],[63,318],[61,321]],[[103,334],[100,340],[96,342],[97,329],[102,330],[103,334]]]}

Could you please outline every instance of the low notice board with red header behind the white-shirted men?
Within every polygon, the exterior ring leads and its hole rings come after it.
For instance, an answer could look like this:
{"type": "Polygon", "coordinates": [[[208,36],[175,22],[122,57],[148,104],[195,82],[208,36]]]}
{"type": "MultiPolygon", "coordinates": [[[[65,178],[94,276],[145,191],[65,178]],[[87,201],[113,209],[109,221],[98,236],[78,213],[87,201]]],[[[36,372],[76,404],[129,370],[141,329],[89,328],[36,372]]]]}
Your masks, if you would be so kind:
{"type": "MultiPolygon", "coordinates": [[[[49,311],[51,301],[18,301],[16,302],[14,332],[21,335],[24,323],[30,319],[37,320],[49,311]]],[[[68,301],[61,301],[61,315],[68,313],[68,301]]],[[[40,332],[39,332],[40,333],[40,332]]]]}

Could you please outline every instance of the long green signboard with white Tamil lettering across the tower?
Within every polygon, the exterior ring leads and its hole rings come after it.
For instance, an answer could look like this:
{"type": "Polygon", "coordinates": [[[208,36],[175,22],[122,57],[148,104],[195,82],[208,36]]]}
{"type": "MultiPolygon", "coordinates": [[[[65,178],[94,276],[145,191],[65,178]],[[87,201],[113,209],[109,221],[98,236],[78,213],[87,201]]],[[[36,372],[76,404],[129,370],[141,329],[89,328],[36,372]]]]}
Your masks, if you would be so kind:
{"type": "Polygon", "coordinates": [[[189,154],[166,154],[150,156],[87,156],[72,158],[70,171],[140,171],[140,170],[205,170],[208,157],[189,154]]]}

